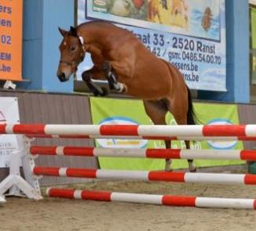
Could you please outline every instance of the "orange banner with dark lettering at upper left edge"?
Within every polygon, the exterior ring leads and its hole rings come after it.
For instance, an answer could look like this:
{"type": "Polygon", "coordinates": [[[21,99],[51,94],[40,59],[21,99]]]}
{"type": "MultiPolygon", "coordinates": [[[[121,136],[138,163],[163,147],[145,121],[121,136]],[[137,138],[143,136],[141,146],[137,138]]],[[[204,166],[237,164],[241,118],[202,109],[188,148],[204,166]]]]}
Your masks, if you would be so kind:
{"type": "Polygon", "coordinates": [[[23,0],[0,2],[0,80],[22,80],[23,0]]]}

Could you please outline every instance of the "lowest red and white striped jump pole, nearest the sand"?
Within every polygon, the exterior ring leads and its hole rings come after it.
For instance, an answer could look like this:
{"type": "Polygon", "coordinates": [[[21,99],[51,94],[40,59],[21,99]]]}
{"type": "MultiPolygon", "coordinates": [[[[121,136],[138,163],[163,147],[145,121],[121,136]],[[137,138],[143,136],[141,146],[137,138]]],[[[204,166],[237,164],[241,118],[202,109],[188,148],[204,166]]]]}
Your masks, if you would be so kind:
{"type": "Polygon", "coordinates": [[[172,206],[189,206],[199,208],[248,208],[256,209],[254,199],[233,199],[218,197],[191,197],[173,195],[127,194],[107,191],[88,191],[48,188],[49,197],[64,197],[93,201],[119,201],[141,204],[162,204],[172,206]]]}

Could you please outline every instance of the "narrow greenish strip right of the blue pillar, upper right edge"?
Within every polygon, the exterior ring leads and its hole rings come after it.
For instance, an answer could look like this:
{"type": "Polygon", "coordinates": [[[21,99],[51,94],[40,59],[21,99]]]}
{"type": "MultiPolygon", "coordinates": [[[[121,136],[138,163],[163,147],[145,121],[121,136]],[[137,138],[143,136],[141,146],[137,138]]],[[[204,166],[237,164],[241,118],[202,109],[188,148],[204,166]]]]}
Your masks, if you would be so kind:
{"type": "Polygon", "coordinates": [[[256,84],[256,9],[251,8],[251,83],[256,84]]]}

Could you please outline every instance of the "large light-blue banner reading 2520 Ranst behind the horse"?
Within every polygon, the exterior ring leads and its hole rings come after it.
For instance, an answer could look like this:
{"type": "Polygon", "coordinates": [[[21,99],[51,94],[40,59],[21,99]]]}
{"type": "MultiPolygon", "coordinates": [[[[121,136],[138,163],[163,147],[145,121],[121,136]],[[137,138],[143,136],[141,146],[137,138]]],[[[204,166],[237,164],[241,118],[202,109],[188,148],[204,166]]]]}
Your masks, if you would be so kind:
{"type": "MultiPolygon", "coordinates": [[[[225,0],[78,0],[78,24],[88,20],[131,30],[177,66],[191,89],[226,91],[225,0]]],[[[87,57],[78,78],[91,67],[87,57]]]]}

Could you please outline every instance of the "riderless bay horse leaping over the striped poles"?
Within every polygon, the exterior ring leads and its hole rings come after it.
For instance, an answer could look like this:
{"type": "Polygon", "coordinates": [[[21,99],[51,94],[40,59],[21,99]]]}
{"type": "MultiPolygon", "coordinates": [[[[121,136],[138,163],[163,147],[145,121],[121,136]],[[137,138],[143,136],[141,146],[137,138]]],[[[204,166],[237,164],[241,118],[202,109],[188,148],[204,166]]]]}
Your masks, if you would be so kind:
{"type": "MultiPolygon", "coordinates": [[[[63,35],[57,70],[60,81],[70,79],[88,52],[94,66],[82,73],[82,79],[93,94],[103,96],[107,91],[91,78],[107,80],[110,89],[142,99],[154,124],[165,125],[168,111],[179,125],[195,124],[191,94],[182,73],[153,55],[132,32],[105,21],[82,23],[70,31],[59,28],[59,32],[63,35]]],[[[171,148],[171,140],[165,140],[165,146],[171,148]]],[[[196,171],[193,160],[188,162],[189,171],[196,171]]],[[[165,170],[171,171],[170,159],[165,170]]]]}

